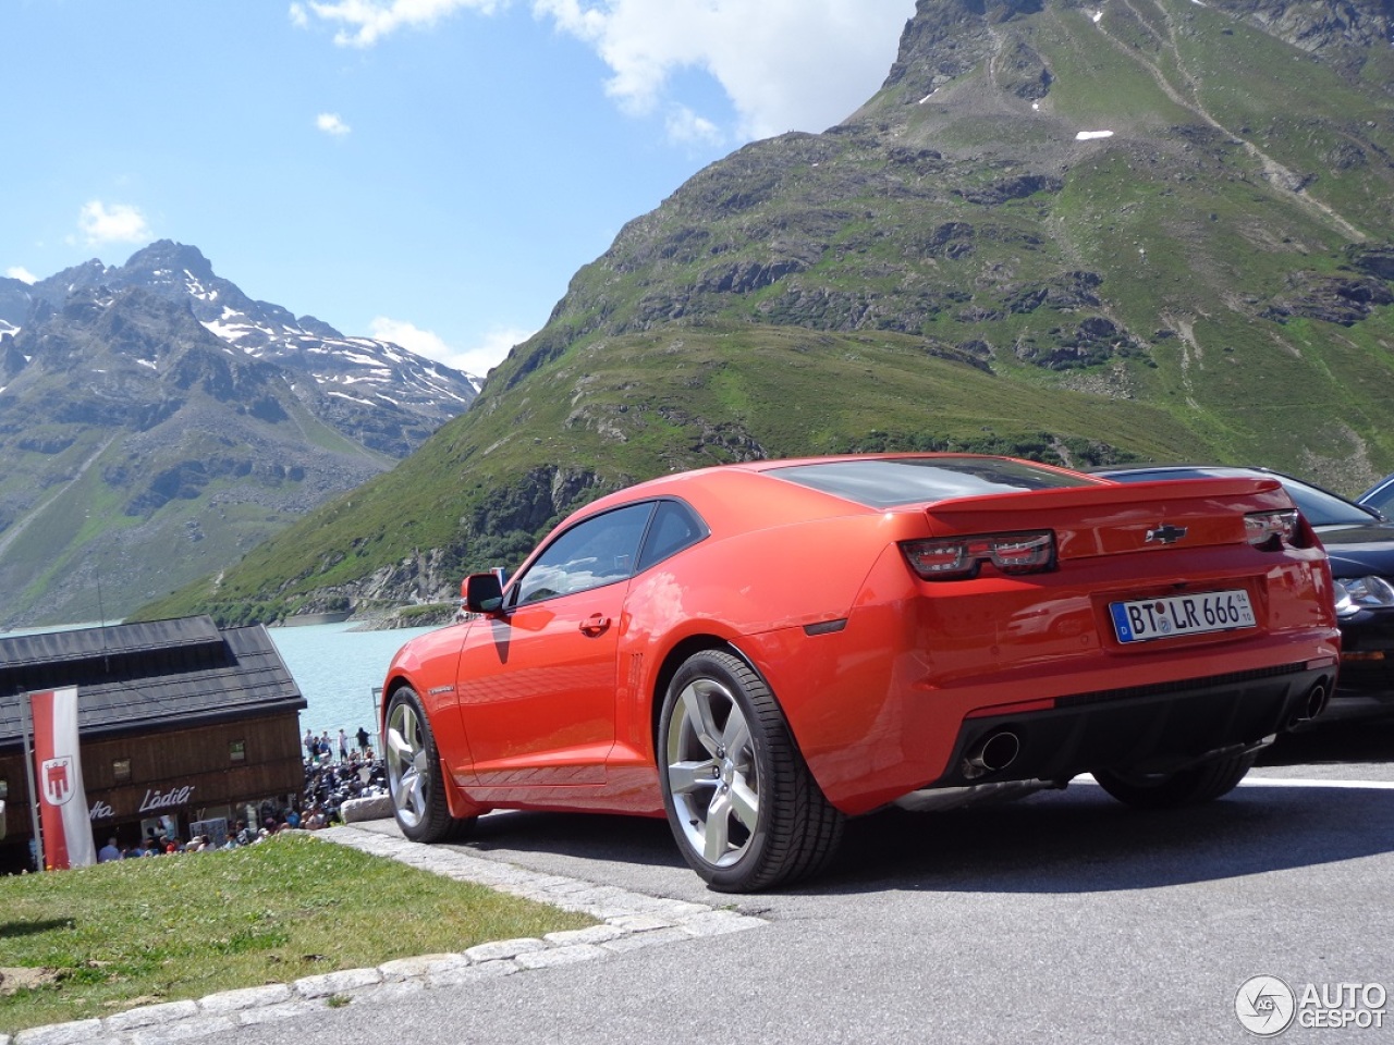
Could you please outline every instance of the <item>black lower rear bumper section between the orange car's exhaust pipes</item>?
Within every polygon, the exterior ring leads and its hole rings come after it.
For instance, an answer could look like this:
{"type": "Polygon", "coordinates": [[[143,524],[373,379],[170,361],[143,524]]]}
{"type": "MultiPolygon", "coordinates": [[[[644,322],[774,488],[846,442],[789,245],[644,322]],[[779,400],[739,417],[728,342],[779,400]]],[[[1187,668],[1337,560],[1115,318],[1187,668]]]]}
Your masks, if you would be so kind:
{"type": "Polygon", "coordinates": [[[1055,706],[966,719],[947,772],[926,787],[1006,780],[1064,783],[1097,769],[1164,773],[1217,751],[1242,751],[1319,711],[1335,669],[1306,663],[1059,697],[1055,706]],[[974,755],[998,741],[991,768],[974,755]],[[1001,752],[1015,747],[1005,765],[1001,752]]]}

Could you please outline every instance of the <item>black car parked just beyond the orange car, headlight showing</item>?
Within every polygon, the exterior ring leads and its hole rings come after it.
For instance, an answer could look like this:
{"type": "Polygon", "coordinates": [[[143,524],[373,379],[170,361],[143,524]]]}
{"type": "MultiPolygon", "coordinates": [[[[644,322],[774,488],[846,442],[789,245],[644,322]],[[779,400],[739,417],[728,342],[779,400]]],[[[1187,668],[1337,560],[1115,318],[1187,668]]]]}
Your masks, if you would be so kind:
{"type": "MultiPolygon", "coordinates": [[[[1331,559],[1335,613],[1341,624],[1341,673],[1330,716],[1394,713],[1394,522],[1380,510],[1267,468],[1150,465],[1096,472],[1124,482],[1193,479],[1204,475],[1270,475],[1287,489],[1331,559]]],[[[1376,485],[1394,499],[1394,477],[1376,485]]],[[[1387,503],[1387,502],[1386,502],[1387,503]]]]}

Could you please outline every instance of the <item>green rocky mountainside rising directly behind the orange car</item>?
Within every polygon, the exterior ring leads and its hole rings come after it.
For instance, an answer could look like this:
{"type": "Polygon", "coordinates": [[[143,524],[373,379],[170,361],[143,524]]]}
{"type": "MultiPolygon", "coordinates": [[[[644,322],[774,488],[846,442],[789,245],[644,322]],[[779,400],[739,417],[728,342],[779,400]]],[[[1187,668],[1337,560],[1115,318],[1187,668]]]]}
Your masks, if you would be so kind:
{"type": "Polygon", "coordinates": [[[447,596],[598,492],[760,456],[1361,489],[1394,468],[1391,42],[1391,0],[919,0],[848,120],[700,171],[468,414],[148,609],[447,596]]]}

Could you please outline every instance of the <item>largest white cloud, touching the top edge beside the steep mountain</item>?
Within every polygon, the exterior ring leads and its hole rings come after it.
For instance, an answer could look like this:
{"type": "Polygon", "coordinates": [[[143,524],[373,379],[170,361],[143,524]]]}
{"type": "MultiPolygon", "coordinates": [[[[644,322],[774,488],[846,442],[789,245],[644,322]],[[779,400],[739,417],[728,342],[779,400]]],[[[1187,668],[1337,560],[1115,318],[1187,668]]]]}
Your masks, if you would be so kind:
{"type": "Polygon", "coordinates": [[[746,138],[822,131],[885,78],[914,0],[534,0],[611,67],[606,92],[630,113],[665,100],[671,77],[721,84],[746,138]]]}

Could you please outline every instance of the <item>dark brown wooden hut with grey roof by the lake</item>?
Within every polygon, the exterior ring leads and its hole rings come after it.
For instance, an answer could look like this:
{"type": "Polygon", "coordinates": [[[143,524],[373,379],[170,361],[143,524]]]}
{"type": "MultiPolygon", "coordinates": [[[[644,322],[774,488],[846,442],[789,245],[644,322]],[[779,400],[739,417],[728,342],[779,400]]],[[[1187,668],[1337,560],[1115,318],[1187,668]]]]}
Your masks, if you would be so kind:
{"type": "Polygon", "coordinates": [[[98,849],[255,828],[297,805],[305,699],[266,630],[209,617],[0,637],[0,872],[31,867],[28,694],[75,686],[98,849]]]}

